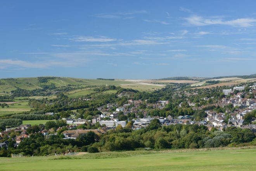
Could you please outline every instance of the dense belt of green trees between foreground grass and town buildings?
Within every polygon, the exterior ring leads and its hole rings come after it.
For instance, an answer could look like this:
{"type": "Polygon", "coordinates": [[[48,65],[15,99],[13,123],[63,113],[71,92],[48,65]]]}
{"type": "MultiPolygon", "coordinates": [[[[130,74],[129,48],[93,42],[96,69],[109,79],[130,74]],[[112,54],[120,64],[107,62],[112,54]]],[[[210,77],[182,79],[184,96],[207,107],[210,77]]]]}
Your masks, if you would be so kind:
{"type": "MultiPolygon", "coordinates": [[[[48,122],[49,128],[57,123],[48,122]]],[[[39,127],[38,127],[39,128],[39,127]]],[[[35,127],[35,129],[38,129],[35,127]]],[[[80,135],[76,140],[65,140],[62,131],[56,136],[45,139],[42,134],[32,134],[30,138],[25,138],[18,147],[14,147],[11,138],[8,139],[8,151],[5,156],[11,153],[22,153],[24,155],[49,155],[62,152],[73,151],[116,151],[133,150],[137,148],[155,149],[196,149],[211,147],[233,147],[235,145],[256,145],[254,133],[249,129],[228,127],[224,131],[216,131],[216,128],[208,130],[206,126],[193,125],[169,125],[161,126],[157,119],[154,119],[147,128],[131,130],[118,126],[116,130],[109,130],[105,135],[95,135],[89,132],[80,135]],[[242,143],[242,144],[241,144],[242,143]]],[[[33,130],[31,130],[33,131],[33,130]]],[[[1,149],[3,151],[3,149],[1,149]]],[[[0,151],[0,155],[3,152],[0,151]]]]}

